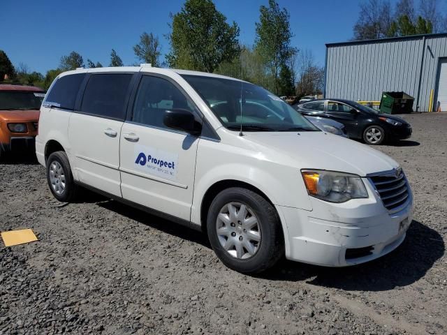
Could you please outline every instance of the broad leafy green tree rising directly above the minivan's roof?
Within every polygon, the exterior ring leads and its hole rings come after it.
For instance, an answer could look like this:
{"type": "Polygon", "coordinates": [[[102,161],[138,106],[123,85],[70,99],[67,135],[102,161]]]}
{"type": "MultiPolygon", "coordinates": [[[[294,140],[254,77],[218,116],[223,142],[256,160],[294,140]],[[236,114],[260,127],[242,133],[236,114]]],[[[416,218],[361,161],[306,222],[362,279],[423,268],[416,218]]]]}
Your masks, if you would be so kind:
{"type": "Polygon", "coordinates": [[[237,24],[228,24],[211,0],[186,0],[171,17],[171,50],[166,56],[170,67],[212,73],[240,53],[237,24]]]}

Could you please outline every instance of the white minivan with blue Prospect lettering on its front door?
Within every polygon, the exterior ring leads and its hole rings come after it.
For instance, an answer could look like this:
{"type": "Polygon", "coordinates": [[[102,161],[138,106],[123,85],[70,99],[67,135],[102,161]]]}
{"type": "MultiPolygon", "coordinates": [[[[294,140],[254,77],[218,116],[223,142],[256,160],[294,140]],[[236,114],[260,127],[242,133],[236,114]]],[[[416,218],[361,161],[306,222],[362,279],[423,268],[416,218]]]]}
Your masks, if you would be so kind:
{"type": "Polygon", "coordinates": [[[261,87],[210,73],[144,64],[61,73],[36,154],[57,200],[89,188],[197,228],[243,273],[283,255],[367,262],[397,248],[412,220],[393,159],[320,131],[261,87]]]}

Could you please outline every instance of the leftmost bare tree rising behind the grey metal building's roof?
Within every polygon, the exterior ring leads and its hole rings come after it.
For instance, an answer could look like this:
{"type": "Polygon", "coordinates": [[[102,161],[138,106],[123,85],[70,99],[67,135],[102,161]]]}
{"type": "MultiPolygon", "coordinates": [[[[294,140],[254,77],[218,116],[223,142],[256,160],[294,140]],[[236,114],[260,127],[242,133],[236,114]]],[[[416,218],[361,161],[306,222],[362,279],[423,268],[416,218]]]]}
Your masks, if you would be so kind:
{"type": "Polygon", "coordinates": [[[360,3],[360,13],[354,25],[354,40],[386,37],[392,22],[389,1],[367,0],[360,3]]]}

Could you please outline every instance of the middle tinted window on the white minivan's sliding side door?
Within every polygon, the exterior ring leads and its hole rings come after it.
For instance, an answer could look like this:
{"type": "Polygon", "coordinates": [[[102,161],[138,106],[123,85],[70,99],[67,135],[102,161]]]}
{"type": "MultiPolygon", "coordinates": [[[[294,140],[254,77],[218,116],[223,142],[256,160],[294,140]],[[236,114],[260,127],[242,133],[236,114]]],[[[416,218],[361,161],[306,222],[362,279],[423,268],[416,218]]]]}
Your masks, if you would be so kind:
{"type": "Polygon", "coordinates": [[[131,79],[132,75],[128,73],[91,75],[82,98],[81,111],[98,117],[124,120],[131,79]]]}

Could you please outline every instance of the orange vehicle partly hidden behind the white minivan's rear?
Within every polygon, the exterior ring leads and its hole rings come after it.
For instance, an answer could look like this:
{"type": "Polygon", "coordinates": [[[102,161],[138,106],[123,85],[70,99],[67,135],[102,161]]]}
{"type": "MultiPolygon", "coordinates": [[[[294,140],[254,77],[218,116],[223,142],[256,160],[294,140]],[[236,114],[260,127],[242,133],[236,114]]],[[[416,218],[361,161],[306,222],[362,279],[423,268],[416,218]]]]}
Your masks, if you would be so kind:
{"type": "Polygon", "coordinates": [[[0,156],[34,145],[44,96],[38,87],[0,83],[0,156]]]}

